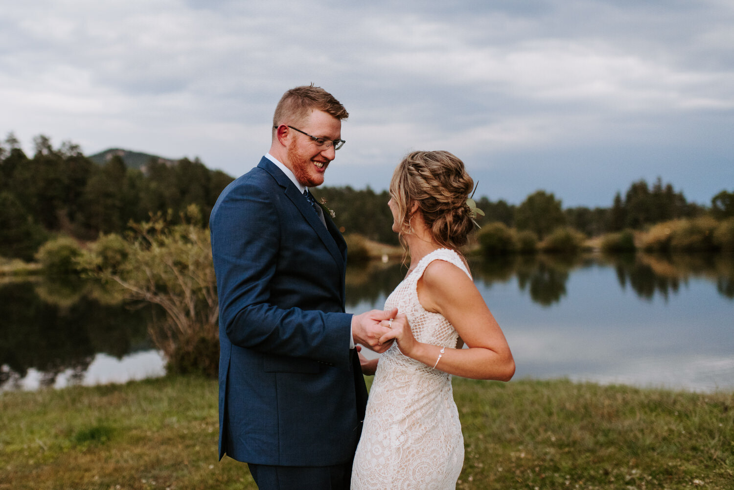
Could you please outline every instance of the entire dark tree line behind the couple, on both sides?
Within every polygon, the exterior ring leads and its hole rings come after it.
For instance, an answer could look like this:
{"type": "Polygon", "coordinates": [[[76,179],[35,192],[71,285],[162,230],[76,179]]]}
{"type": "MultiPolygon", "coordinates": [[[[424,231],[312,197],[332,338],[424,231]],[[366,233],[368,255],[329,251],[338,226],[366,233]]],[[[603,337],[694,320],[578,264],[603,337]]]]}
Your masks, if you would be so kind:
{"type": "MultiPolygon", "coordinates": [[[[11,133],[0,142],[0,256],[31,260],[37,248],[54,234],[81,241],[100,234],[122,233],[129,223],[151,215],[171,215],[172,220],[189,205],[200,209],[206,225],[219,193],[233,180],[220,170],[209,170],[198,158],[171,165],[151,158],[140,168],[128,168],[120,156],[102,165],[82,154],[70,142],[54,148],[51,140],[34,137],[34,154],[27,156],[11,133]]],[[[396,244],[387,191],[352,187],[319,187],[313,194],[328,209],[344,234],[360,234],[377,242],[396,244]]],[[[655,223],[711,215],[722,220],[734,216],[734,190],[722,190],[711,206],[688,203],[682,191],[658,178],[652,185],[633,182],[617,192],[608,208],[566,208],[552,192],[537,190],[514,205],[504,200],[477,200],[485,215],[479,226],[504,223],[518,231],[531,231],[538,239],[560,227],[570,227],[587,237],[622,230],[640,230],[655,223]]]]}

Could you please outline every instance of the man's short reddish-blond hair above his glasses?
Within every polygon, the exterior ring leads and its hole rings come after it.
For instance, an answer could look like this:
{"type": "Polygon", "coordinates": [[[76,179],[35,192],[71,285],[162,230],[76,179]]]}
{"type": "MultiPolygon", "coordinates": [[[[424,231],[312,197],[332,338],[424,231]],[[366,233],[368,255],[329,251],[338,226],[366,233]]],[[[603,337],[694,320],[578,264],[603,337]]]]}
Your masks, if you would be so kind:
{"type": "Polygon", "coordinates": [[[326,90],[314,87],[313,84],[302,85],[287,90],[277,103],[273,115],[273,137],[280,124],[302,123],[313,109],[324,111],[338,120],[349,118],[349,112],[326,90]]]}

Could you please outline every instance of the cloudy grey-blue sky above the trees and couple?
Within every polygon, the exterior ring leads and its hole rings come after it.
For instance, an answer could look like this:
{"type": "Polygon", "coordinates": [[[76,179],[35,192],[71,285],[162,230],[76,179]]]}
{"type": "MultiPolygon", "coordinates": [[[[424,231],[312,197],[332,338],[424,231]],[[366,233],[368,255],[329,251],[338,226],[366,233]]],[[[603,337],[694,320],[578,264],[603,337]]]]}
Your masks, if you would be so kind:
{"type": "Polygon", "coordinates": [[[350,116],[327,184],[444,149],[477,195],[610,206],[734,191],[734,0],[24,0],[0,10],[0,137],[198,156],[239,176],[313,82],[350,116]]]}

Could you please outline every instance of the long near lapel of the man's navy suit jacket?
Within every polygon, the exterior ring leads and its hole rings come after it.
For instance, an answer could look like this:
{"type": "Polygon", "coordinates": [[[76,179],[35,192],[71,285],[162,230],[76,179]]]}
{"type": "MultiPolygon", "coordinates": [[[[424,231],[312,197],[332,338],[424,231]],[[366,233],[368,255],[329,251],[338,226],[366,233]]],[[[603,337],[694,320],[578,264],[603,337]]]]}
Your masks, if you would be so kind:
{"type": "Polygon", "coordinates": [[[331,218],[326,216],[324,213],[324,219],[327,223],[327,226],[324,226],[324,223],[321,223],[319,215],[317,215],[316,212],[313,212],[313,208],[308,201],[306,201],[306,198],[303,197],[301,192],[299,192],[293,182],[291,182],[291,179],[288,179],[288,176],[286,176],[280,168],[273,165],[269,159],[263,157],[260,160],[258,167],[261,167],[270,173],[280,187],[283,187],[286,196],[288,196],[294,206],[297,207],[298,211],[309,226],[316,231],[316,234],[319,235],[319,239],[324,243],[327,251],[329,251],[333,256],[340,270],[344,272],[344,264],[346,263],[346,243],[331,218]]]}

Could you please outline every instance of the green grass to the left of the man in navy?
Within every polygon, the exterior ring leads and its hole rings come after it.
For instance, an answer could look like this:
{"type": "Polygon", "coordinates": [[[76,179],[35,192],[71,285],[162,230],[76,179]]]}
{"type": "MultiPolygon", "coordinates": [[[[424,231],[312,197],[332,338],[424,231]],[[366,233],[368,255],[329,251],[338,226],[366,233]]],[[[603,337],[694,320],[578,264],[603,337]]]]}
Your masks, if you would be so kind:
{"type": "Polygon", "coordinates": [[[255,489],[217,462],[217,382],[176,377],[0,395],[0,489],[255,489]]]}

